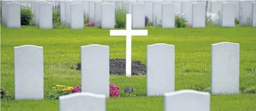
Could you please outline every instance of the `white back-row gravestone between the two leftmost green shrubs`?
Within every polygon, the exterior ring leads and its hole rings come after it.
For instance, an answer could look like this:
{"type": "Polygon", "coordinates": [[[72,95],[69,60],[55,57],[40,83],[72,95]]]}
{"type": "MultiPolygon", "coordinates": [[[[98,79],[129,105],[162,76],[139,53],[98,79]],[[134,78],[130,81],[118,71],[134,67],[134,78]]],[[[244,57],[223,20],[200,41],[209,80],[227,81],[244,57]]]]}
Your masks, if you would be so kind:
{"type": "Polygon", "coordinates": [[[53,29],[53,5],[49,2],[39,3],[39,28],[53,29]]]}

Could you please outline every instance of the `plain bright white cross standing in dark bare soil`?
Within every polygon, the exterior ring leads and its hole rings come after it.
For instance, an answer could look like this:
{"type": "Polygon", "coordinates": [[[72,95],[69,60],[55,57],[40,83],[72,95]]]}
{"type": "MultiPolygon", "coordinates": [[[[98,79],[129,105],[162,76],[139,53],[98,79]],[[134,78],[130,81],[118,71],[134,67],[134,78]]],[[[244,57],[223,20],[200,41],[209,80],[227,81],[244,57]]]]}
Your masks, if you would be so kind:
{"type": "Polygon", "coordinates": [[[132,30],[132,14],[126,14],[126,30],[110,30],[110,36],[126,36],[126,76],[131,76],[132,36],[147,36],[147,30],[132,30]]]}

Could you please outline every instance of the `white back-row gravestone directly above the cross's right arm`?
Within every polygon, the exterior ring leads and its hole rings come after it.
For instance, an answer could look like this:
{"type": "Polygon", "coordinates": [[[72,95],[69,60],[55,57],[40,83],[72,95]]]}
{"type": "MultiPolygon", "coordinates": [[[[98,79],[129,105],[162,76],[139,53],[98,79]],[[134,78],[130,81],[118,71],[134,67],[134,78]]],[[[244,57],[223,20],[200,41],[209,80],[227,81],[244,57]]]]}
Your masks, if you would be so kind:
{"type": "Polygon", "coordinates": [[[144,3],[132,4],[132,28],[145,28],[145,5],[144,3]]]}

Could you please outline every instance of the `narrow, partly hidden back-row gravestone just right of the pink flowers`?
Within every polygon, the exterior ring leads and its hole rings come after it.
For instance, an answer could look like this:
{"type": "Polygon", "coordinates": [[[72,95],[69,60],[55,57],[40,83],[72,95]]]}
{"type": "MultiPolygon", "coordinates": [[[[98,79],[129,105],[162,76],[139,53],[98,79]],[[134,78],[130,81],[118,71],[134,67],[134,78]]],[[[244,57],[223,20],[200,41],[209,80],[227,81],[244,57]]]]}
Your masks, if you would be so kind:
{"type": "Polygon", "coordinates": [[[97,1],[94,3],[95,26],[101,26],[101,4],[104,2],[97,1]]]}

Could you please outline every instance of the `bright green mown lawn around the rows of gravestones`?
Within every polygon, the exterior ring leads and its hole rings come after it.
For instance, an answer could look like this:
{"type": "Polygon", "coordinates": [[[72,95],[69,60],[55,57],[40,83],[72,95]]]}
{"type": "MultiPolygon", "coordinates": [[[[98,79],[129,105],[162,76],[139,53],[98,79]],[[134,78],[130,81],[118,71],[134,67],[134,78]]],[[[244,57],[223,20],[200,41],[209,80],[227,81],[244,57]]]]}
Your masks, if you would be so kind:
{"type": "MultiPolygon", "coordinates": [[[[200,85],[210,87],[211,44],[233,42],[240,44],[240,88],[256,85],[256,28],[210,27],[203,29],[148,28],[148,36],[132,37],[132,60],[146,65],[146,46],[155,43],[175,45],[175,90],[200,85]]],[[[84,30],[35,27],[1,30],[1,86],[14,95],[13,47],[38,45],[44,47],[45,100],[1,100],[1,110],[58,110],[58,100],[46,95],[56,84],[80,85],[80,71],[70,69],[80,62],[80,48],[89,44],[110,46],[110,58],[125,58],[125,37],[109,36],[109,29],[84,30]]],[[[134,87],[138,98],[111,98],[107,110],[163,110],[162,97],[146,96],[146,76],[110,76],[110,82],[134,87]]],[[[255,110],[256,94],[211,96],[211,110],[255,110]]]]}

